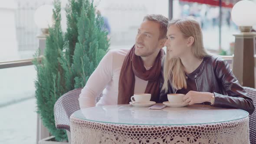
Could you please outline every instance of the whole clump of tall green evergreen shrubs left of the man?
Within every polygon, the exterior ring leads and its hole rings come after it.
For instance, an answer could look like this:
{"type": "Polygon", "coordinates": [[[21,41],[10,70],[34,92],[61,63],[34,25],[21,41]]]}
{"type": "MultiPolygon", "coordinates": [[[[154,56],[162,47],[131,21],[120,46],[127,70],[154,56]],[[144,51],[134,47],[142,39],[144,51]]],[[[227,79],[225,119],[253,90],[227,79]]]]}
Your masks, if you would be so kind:
{"type": "Polygon", "coordinates": [[[66,92],[85,85],[109,46],[107,32],[102,30],[103,18],[95,16],[92,2],[69,0],[65,35],[60,25],[60,10],[60,0],[55,0],[55,24],[49,28],[44,57],[40,62],[37,52],[33,61],[37,71],[37,112],[57,141],[67,140],[67,136],[66,131],[55,127],[55,102],[66,92]]]}

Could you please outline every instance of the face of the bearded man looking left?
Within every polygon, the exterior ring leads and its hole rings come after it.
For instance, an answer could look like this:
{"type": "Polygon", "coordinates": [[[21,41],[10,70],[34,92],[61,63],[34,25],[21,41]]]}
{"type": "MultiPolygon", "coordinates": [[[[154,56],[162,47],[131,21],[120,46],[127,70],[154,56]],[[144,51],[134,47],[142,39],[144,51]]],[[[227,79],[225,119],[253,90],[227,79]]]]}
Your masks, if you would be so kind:
{"type": "Polygon", "coordinates": [[[161,48],[159,36],[159,23],[148,20],[142,22],[135,39],[135,55],[147,57],[159,51],[161,48]]]}

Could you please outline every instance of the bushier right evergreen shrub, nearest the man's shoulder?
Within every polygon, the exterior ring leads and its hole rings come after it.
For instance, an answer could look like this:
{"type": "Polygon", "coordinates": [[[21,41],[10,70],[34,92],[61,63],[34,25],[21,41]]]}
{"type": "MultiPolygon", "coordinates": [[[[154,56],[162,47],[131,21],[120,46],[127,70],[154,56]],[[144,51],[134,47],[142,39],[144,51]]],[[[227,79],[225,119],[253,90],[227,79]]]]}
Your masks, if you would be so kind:
{"type": "Polygon", "coordinates": [[[79,36],[70,69],[72,77],[66,76],[67,81],[75,80],[74,85],[67,85],[67,87],[74,86],[70,89],[83,87],[105,55],[109,42],[107,32],[102,30],[102,26],[102,16],[95,16],[93,3],[85,0],[77,23],[79,36]]]}

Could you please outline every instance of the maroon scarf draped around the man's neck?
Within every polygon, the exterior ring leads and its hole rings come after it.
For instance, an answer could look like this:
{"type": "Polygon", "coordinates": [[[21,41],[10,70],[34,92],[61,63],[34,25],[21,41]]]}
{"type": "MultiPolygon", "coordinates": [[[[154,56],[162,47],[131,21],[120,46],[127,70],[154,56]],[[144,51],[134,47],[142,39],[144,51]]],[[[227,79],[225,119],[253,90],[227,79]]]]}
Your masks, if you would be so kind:
{"type": "Polygon", "coordinates": [[[135,55],[135,46],[131,48],[125,57],[121,68],[118,86],[118,105],[128,104],[131,101],[131,96],[134,94],[135,75],[148,81],[148,85],[144,93],[151,94],[151,101],[158,101],[160,74],[161,74],[161,60],[164,56],[164,50],[161,49],[155,59],[154,65],[151,69],[146,70],[144,63],[140,56],[135,55]]]}

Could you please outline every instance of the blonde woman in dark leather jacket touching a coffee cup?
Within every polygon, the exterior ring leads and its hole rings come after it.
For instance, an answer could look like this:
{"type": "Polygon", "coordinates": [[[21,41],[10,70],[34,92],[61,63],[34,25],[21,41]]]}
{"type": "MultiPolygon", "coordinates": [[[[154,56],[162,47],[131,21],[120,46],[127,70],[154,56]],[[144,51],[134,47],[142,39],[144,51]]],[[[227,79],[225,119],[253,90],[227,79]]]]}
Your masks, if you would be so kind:
{"type": "Polygon", "coordinates": [[[168,93],[182,93],[189,105],[204,103],[253,113],[253,100],[246,96],[228,63],[207,54],[196,20],[171,20],[165,46],[160,101],[167,101],[168,93]]]}

